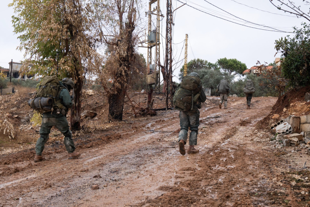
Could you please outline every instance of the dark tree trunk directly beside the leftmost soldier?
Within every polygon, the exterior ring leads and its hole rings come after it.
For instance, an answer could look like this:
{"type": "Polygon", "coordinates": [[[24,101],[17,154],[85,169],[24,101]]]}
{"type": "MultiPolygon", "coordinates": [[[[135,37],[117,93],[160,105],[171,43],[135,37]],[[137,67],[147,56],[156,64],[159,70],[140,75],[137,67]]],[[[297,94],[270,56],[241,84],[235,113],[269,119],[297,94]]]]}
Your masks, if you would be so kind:
{"type": "Polygon", "coordinates": [[[73,76],[75,82],[73,88],[73,106],[70,116],[70,128],[71,130],[81,129],[81,107],[82,107],[82,87],[83,87],[83,75],[80,74],[81,70],[76,69],[73,76]]]}

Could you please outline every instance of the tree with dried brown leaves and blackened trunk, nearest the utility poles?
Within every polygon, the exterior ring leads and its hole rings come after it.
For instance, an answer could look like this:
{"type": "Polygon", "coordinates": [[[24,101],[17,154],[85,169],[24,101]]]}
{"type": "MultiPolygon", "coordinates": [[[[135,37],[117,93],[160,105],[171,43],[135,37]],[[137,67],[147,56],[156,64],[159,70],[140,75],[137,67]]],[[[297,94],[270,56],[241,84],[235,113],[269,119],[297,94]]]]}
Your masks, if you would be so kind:
{"type": "Polygon", "coordinates": [[[135,45],[138,41],[134,30],[138,22],[139,4],[136,0],[96,1],[104,14],[100,26],[103,43],[108,48],[104,67],[97,69],[97,75],[108,95],[109,121],[123,118],[125,94],[134,68],[135,45]]]}

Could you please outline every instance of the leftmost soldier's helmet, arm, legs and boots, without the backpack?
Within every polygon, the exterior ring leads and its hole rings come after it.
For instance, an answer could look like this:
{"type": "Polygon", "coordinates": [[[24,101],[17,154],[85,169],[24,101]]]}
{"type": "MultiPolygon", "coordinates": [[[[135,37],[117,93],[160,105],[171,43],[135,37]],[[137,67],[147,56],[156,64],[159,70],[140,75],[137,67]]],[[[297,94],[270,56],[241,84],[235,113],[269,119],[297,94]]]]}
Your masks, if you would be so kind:
{"type": "Polygon", "coordinates": [[[64,106],[64,109],[55,109],[52,113],[42,113],[42,125],[39,131],[40,138],[38,139],[35,147],[36,155],[34,157],[34,162],[41,162],[42,160],[45,160],[45,158],[42,157],[42,151],[53,126],[56,126],[56,128],[64,135],[64,145],[68,151],[68,158],[78,158],[81,155],[81,153],[74,152],[75,146],[72,140],[72,132],[66,118],[68,109],[72,107],[69,91],[73,89],[74,83],[71,79],[64,78],[60,82],[60,86],[62,89],[60,91],[59,99],[61,100],[61,104],[64,106]]]}

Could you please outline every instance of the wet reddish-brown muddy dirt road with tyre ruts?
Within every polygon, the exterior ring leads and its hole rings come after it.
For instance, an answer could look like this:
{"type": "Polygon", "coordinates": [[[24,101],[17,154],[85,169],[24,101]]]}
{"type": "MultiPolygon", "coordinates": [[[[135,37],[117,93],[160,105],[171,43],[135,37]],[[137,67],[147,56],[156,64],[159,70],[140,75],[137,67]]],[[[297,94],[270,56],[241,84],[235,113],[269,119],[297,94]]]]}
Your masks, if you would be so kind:
{"type": "Polygon", "coordinates": [[[255,129],[276,100],[253,98],[246,110],[231,97],[225,110],[213,97],[200,110],[198,154],[179,154],[173,110],[92,133],[88,148],[76,140],[79,159],[53,143],[40,163],[33,151],[2,155],[0,206],[303,206],[279,178],[288,162],[255,129]]]}

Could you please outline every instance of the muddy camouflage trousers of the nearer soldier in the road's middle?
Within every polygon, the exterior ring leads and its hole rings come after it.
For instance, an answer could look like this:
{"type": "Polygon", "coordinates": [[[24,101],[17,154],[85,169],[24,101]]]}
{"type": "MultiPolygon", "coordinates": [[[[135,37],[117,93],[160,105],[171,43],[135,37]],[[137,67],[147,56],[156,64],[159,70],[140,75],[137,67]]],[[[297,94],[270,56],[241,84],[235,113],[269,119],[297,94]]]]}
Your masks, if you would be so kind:
{"type": "Polygon", "coordinates": [[[189,111],[180,111],[180,126],[181,131],[179,132],[179,140],[184,140],[185,144],[187,141],[188,135],[188,127],[190,127],[190,134],[189,134],[189,145],[197,145],[197,134],[198,134],[198,126],[199,126],[199,116],[200,112],[196,108],[193,110],[194,112],[189,111]]]}

